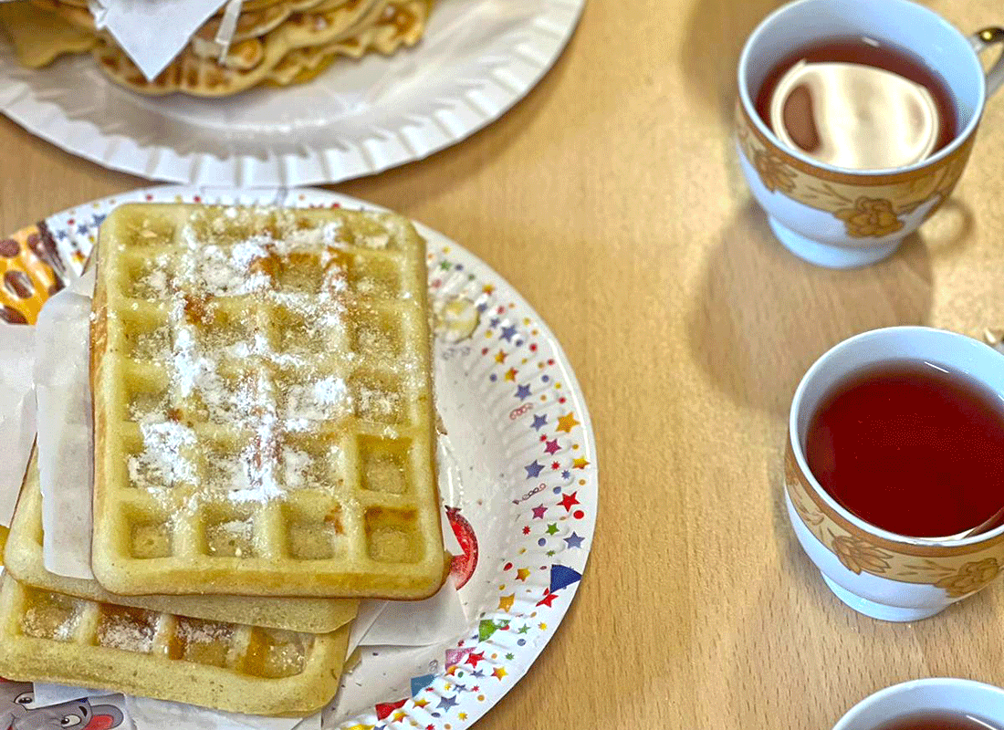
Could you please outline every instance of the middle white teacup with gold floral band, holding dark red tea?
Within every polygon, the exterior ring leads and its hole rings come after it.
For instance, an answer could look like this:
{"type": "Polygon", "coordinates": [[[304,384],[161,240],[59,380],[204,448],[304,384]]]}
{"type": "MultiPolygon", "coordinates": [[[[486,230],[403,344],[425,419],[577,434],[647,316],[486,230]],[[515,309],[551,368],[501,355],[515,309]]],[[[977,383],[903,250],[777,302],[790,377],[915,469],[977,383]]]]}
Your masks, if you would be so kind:
{"type": "Polygon", "coordinates": [[[962,539],[898,535],[849,512],[809,470],[809,422],[832,388],[851,373],[905,359],[942,363],[1004,400],[1004,354],[993,347],[929,327],[873,329],[843,340],[805,373],[791,402],[784,469],[788,517],[826,584],[854,611],[900,622],[972,595],[1004,565],[1004,525],[962,539]]]}

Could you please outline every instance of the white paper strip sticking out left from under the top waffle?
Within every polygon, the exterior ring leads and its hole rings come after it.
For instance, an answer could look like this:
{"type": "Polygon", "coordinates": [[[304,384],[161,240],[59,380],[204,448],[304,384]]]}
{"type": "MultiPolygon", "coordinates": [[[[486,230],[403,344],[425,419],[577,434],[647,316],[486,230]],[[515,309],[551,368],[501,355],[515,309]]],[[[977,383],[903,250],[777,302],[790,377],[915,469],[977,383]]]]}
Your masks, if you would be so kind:
{"type": "Polygon", "coordinates": [[[91,578],[90,493],[93,479],[87,342],[94,274],[53,296],[35,325],[38,470],[42,488],[45,568],[91,578]]]}

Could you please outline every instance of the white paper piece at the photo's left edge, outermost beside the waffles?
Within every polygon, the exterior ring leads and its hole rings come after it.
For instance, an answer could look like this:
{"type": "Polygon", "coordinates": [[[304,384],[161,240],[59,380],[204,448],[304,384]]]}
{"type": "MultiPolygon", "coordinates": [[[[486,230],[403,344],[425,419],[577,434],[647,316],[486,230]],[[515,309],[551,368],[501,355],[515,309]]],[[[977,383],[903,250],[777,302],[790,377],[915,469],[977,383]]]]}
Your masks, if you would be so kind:
{"type": "Polygon", "coordinates": [[[24,468],[35,439],[35,389],[31,361],[35,328],[0,324],[0,524],[10,526],[24,468]]]}

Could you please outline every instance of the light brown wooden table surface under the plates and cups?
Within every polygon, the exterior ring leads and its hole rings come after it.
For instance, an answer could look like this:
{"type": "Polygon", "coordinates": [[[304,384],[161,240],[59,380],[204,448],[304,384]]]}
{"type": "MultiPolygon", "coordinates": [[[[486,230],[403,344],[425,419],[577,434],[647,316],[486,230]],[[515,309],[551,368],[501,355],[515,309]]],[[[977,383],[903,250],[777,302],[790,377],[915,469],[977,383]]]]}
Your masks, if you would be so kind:
{"type": "MultiPolygon", "coordinates": [[[[479,724],[828,730],[928,676],[1004,685],[1004,590],[883,624],[824,587],[784,514],[791,394],[840,339],[1004,324],[1004,98],[952,201],[892,259],[789,255],[730,140],[743,39],[774,0],[589,0],[556,67],[500,121],[337,190],[481,256],[536,307],[585,392],[600,511],[571,611],[479,724]]],[[[980,0],[930,3],[965,31],[980,0]]],[[[1004,96],[1004,94],[1002,94],[1004,96]]],[[[0,231],[145,185],[0,119],[0,231]]]]}

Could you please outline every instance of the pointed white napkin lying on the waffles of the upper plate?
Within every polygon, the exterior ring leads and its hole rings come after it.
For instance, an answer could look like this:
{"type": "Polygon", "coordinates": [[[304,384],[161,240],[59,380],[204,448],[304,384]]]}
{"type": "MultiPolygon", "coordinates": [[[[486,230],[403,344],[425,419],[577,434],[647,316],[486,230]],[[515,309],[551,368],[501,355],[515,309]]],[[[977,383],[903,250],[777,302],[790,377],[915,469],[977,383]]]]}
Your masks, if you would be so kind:
{"type": "Polygon", "coordinates": [[[89,7],[94,25],[111,33],[143,74],[153,79],[225,1],[90,0],[89,7]]]}

